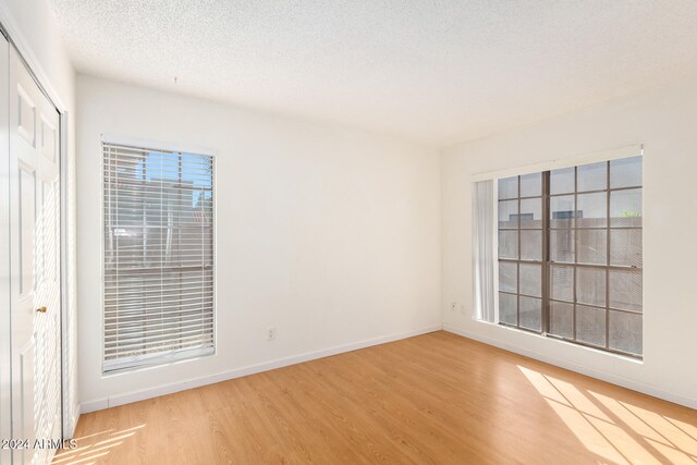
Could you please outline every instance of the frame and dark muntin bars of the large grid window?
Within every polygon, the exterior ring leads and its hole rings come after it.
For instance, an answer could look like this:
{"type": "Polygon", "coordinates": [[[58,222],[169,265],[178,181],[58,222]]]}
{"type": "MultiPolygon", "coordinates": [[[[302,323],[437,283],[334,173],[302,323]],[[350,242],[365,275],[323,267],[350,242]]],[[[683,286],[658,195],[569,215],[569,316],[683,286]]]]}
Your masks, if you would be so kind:
{"type": "MultiPolygon", "coordinates": [[[[628,351],[624,351],[624,350],[620,350],[620,348],[613,348],[611,347],[611,341],[610,341],[610,318],[611,315],[614,315],[614,313],[625,313],[625,314],[631,314],[631,315],[638,315],[641,318],[641,329],[644,329],[644,298],[641,297],[641,309],[640,310],[631,310],[631,309],[626,309],[626,308],[617,308],[616,306],[612,306],[611,305],[611,287],[610,287],[610,277],[612,271],[624,271],[624,272],[632,272],[632,273],[638,273],[640,277],[640,280],[643,282],[644,279],[644,264],[643,260],[640,262],[640,265],[638,266],[634,266],[634,265],[613,265],[612,264],[612,256],[611,256],[611,234],[613,231],[623,231],[623,230],[638,230],[641,231],[644,230],[644,222],[641,222],[641,225],[613,225],[613,218],[612,217],[612,211],[611,211],[611,199],[612,199],[612,194],[616,193],[616,192],[625,192],[625,191],[636,191],[636,189],[640,189],[641,193],[641,204],[643,204],[643,197],[644,197],[644,175],[641,174],[641,179],[640,179],[640,184],[639,185],[623,185],[620,187],[612,187],[611,184],[611,167],[612,167],[612,162],[615,160],[622,160],[622,159],[627,159],[627,158],[639,158],[641,160],[641,173],[643,173],[643,168],[644,168],[644,152],[640,149],[639,146],[639,150],[638,154],[637,151],[632,150],[634,147],[632,148],[627,148],[622,150],[619,156],[615,157],[607,157],[607,158],[600,158],[599,157],[594,157],[595,159],[589,159],[589,160],[584,160],[584,159],[576,159],[573,160],[571,162],[566,161],[564,163],[548,163],[547,166],[536,166],[536,167],[530,167],[527,170],[519,170],[517,173],[513,170],[508,170],[505,173],[498,173],[498,175],[488,178],[488,179],[494,179],[494,180],[503,180],[503,179],[509,179],[509,178],[517,178],[517,196],[516,197],[503,197],[500,198],[500,195],[498,193],[498,187],[494,189],[494,205],[496,205],[496,209],[497,211],[494,211],[494,220],[497,222],[496,225],[496,234],[497,236],[499,235],[500,231],[516,231],[517,232],[517,258],[506,258],[506,257],[501,257],[500,254],[500,244],[497,241],[497,249],[496,249],[496,261],[497,261],[497,278],[494,279],[494,283],[496,283],[496,315],[497,315],[497,319],[496,319],[496,323],[506,327],[506,328],[511,328],[511,329],[516,329],[516,330],[521,330],[521,331],[526,331],[526,332],[531,332],[535,334],[540,334],[543,336],[549,336],[551,339],[557,339],[557,340],[562,340],[562,341],[567,341],[570,343],[573,344],[577,344],[577,345],[582,345],[582,346],[587,346],[587,347],[591,347],[591,348],[596,348],[596,350],[600,350],[603,352],[608,352],[608,353],[613,353],[613,354],[619,354],[622,356],[626,356],[626,357],[631,357],[631,358],[636,358],[636,359],[643,359],[644,358],[644,331],[641,330],[641,350],[639,354],[633,353],[633,352],[628,352],[628,351]],[[627,152],[628,150],[632,150],[634,152],[627,152]],[[599,163],[602,162],[606,164],[604,170],[606,170],[606,180],[604,180],[604,188],[597,188],[597,189],[588,189],[588,191],[579,191],[579,183],[578,183],[578,168],[579,167],[584,167],[584,166],[589,166],[589,164],[594,164],[594,163],[599,163]],[[561,164],[561,166],[560,166],[561,164]],[[573,169],[574,172],[574,188],[573,192],[563,192],[563,193],[554,193],[551,194],[551,189],[550,189],[550,176],[551,176],[551,172],[555,171],[555,170],[560,170],[560,169],[573,169]],[[539,171],[538,171],[539,170],[539,171]],[[526,175],[526,174],[533,174],[533,173],[539,173],[541,176],[541,197],[542,197],[542,253],[541,253],[541,261],[537,261],[537,260],[527,260],[527,259],[523,259],[523,250],[522,250],[522,231],[530,231],[529,228],[522,228],[521,224],[521,201],[525,198],[539,198],[538,196],[522,196],[522,187],[521,187],[521,179],[522,176],[526,175]],[[597,194],[597,193],[604,193],[606,195],[606,199],[604,199],[604,211],[606,211],[606,216],[604,216],[604,220],[606,220],[606,224],[604,227],[588,227],[588,225],[580,225],[578,224],[578,215],[577,212],[579,211],[579,206],[578,206],[578,196],[579,195],[585,195],[585,194],[597,194]],[[550,215],[551,215],[551,199],[554,197],[561,197],[561,196],[571,196],[573,195],[574,197],[574,210],[576,211],[573,215],[573,227],[571,228],[560,228],[560,227],[552,227],[550,223],[550,215]],[[511,200],[517,200],[517,215],[516,215],[516,228],[512,229],[512,228],[501,228],[500,224],[500,218],[499,218],[499,206],[501,204],[501,201],[511,201],[511,200]],[[552,231],[572,231],[573,232],[573,261],[553,261],[551,260],[551,256],[550,256],[550,242],[551,242],[551,233],[552,231]],[[588,230],[595,230],[595,231],[603,231],[604,232],[604,244],[606,244],[606,249],[604,249],[604,264],[585,264],[585,262],[579,262],[578,261],[578,253],[579,253],[579,247],[578,247],[578,231],[588,231],[588,230]],[[501,291],[500,289],[500,284],[501,284],[501,278],[498,276],[498,270],[500,269],[500,264],[502,262],[509,262],[509,264],[515,264],[516,265],[516,292],[509,292],[509,291],[501,291]],[[540,330],[537,331],[535,329],[530,329],[530,328],[526,328],[526,327],[522,327],[521,326],[521,297],[522,296],[526,296],[526,294],[523,294],[521,292],[521,286],[519,286],[519,282],[521,282],[521,274],[519,274],[519,268],[521,268],[521,264],[541,264],[541,299],[542,299],[542,304],[541,304],[541,311],[540,311],[540,330]],[[572,291],[573,291],[573,297],[572,301],[560,301],[558,298],[552,298],[552,284],[551,284],[551,272],[552,272],[552,268],[557,266],[557,267],[567,267],[571,268],[573,271],[572,274],[572,291]],[[577,270],[578,269],[595,269],[595,270],[602,270],[604,272],[604,306],[598,306],[598,305],[594,305],[594,304],[588,304],[586,305],[585,303],[578,303],[577,302],[577,286],[578,286],[578,278],[577,278],[577,270]],[[501,305],[500,305],[500,296],[501,294],[508,294],[508,295],[514,295],[516,297],[516,315],[515,315],[515,323],[510,322],[510,321],[502,321],[501,318],[501,305]],[[568,304],[572,306],[572,331],[573,334],[572,336],[564,336],[564,335],[560,335],[560,334],[554,334],[550,332],[550,326],[551,326],[551,305],[552,303],[562,303],[562,304],[568,304]],[[598,309],[602,309],[604,311],[604,343],[602,345],[600,344],[594,344],[594,343],[589,343],[589,342],[585,342],[585,341],[580,341],[577,339],[577,320],[576,320],[576,315],[577,315],[577,305],[580,306],[587,306],[587,307],[591,307],[591,308],[598,308],[598,309]]],[[[488,175],[479,175],[477,178],[480,179],[486,179],[485,176],[488,175]]],[[[498,185],[498,182],[497,182],[498,185]]],[[[572,210],[573,211],[573,210],[572,210]]],[[[644,209],[641,209],[641,217],[644,217],[644,209]]],[[[535,229],[533,229],[535,230],[535,229]]],[[[641,241],[641,245],[640,245],[640,249],[639,253],[643,255],[643,250],[644,250],[644,244],[641,241]]],[[[643,292],[643,284],[641,284],[641,292],[643,292]]]]}

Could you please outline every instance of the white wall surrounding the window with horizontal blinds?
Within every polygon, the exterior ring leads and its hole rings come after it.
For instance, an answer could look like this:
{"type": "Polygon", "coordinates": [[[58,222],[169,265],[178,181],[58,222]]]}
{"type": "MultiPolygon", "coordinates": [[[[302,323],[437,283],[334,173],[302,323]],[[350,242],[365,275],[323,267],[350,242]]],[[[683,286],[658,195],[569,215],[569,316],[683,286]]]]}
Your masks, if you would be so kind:
{"type": "Polygon", "coordinates": [[[440,329],[437,150],[86,76],[77,105],[83,411],[440,329]],[[102,377],[101,133],[218,152],[216,356],[102,377]]]}

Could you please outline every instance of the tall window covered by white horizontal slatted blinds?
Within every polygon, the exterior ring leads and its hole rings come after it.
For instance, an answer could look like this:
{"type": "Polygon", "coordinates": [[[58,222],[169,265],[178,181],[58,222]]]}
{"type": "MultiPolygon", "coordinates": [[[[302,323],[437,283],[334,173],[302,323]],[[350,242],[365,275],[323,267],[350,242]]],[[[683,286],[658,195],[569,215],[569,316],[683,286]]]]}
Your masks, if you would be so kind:
{"type": "Polygon", "coordinates": [[[213,352],[213,158],[102,144],[103,371],[213,352]]]}

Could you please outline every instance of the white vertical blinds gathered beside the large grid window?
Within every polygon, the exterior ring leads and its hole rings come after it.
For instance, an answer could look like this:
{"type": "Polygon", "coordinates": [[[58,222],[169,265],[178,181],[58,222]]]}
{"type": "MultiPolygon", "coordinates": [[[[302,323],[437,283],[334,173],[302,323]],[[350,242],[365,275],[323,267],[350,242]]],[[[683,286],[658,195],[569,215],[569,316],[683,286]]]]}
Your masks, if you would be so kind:
{"type": "Polygon", "coordinates": [[[475,317],[494,322],[493,181],[472,184],[475,317]]]}

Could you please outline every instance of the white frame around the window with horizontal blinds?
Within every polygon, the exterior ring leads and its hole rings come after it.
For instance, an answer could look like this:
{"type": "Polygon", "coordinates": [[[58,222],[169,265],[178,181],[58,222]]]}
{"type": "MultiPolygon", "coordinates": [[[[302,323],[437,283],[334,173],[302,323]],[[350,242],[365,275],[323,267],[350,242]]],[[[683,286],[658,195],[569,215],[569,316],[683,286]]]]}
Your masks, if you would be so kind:
{"type": "Polygon", "coordinates": [[[218,352],[218,233],[217,233],[217,218],[218,218],[218,179],[217,179],[217,157],[218,152],[216,150],[205,148],[205,147],[196,147],[188,146],[183,144],[173,144],[166,142],[155,142],[135,137],[129,137],[117,134],[101,134],[101,140],[99,143],[100,156],[101,156],[101,170],[100,170],[100,231],[101,231],[101,240],[100,240],[100,274],[101,274],[101,289],[100,289],[100,367],[102,377],[118,376],[124,372],[139,371],[144,369],[157,368],[161,366],[171,365],[173,363],[179,362],[193,362],[201,357],[211,357],[216,356],[218,352]],[[191,154],[196,156],[206,156],[210,157],[211,160],[211,183],[212,183],[212,347],[208,350],[207,347],[201,347],[199,350],[189,350],[186,352],[175,352],[175,353],[162,353],[157,356],[145,356],[145,357],[133,357],[132,363],[129,366],[123,367],[114,367],[109,368],[106,363],[106,331],[105,331],[105,320],[106,320],[106,216],[107,216],[107,207],[105,204],[105,193],[106,193],[106,170],[105,170],[105,160],[103,160],[103,147],[105,145],[114,145],[121,146],[124,148],[132,148],[136,150],[151,150],[155,152],[172,152],[172,154],[191,154]]]}

